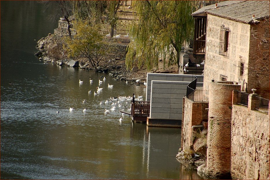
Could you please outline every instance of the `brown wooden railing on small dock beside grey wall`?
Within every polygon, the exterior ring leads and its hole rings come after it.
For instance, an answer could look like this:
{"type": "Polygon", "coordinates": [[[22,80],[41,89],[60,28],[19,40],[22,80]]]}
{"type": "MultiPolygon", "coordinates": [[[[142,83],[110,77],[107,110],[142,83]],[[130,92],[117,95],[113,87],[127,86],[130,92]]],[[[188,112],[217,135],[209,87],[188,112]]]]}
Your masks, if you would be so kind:
{"type": "Polygon", "coordinates": [[[131,103],[131,116],[150,115],[150,101],[135,101],[131,103]]]}

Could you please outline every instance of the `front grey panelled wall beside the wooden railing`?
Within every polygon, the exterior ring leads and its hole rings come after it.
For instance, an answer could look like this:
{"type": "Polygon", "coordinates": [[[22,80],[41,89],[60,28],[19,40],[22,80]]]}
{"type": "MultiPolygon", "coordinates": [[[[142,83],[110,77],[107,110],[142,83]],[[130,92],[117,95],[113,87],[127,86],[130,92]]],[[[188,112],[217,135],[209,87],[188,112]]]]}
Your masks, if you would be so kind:
{"type": "Polygon", "coordinates": [[[150,118],[182,120],[183,97],[188,83],[152,80],[150,118]]]}

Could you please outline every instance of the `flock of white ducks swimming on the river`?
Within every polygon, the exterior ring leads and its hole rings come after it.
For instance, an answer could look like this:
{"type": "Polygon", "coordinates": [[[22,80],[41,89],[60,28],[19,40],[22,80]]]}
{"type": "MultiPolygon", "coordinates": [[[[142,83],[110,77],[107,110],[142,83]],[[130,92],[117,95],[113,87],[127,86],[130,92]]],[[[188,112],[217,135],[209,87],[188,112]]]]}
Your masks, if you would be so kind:
{"type": "MultiPolygon", "coordinates": [[[[103,83],[106,81],[106,77],[103,78],[103,81],[101,81],[99,79],[99,86],[103,85],[103,83]]],[[[136,80],[137,83],[139,83],[141,80],[138,79],[136,80]]],[[[84,81],[81,81],[79,80],[79,85],[81,86],[83,84],[84,81]]],[[[90,85],[93,84],[93,80],[90,78],[89,79],[89,82],[90,82],[90,85]]],[[[146,86],[146,82],[144,82],[144,85],[146,86]]],[[[102,91],[103,91],[103,88],[101,87],[97,87],[97,91],[94,91],[94,96],[100,94],[102,91]]],[[[112,89],[114,85],[110,85],[108,84],[108,89],[112,89]]],[[[92,93],[91,90],[88,91],[88,94],[90,95],[92,93]]],[[[143,95],[138,95],[137,98],[136,96],[134,95],[134,100],[135,101],[142,101],[143,100],[143,95]]],[[[99,104],[106,104],[108,109],[106,108],[104,110],[104,114],[109,114],[111,112],[115,112],[116,109],[119,109],[119,112],[120,110],[125,110],[125,108],[127,109],[127,111],[131,111],[131,102],[132,102],[132,97],[131,96],[118,96],[117,98],[115,97],[110,97],[108,99],[105,100],[105,102],[100,102],[99,104]],[[111,108],[110,108],[110,105],[111,104],[111,108]]],[[[85,104],[86,103],[86,100],[82,100],[82,104],[85,104]]],[[[74,108],[69,108],[69,112],[72,112],[74,108]]],[[[83,112],[86,113],[87,109],[84,108],[83,112]]],[[[57,113],[59,113],[59,111],[57,111],[57,113]]],[[[122,113],[122,116],[124,115],[124,113],[122,113]]],[[[119,122],[121,124],[122,122],[122,117],[119,119],[119,122]]]]}

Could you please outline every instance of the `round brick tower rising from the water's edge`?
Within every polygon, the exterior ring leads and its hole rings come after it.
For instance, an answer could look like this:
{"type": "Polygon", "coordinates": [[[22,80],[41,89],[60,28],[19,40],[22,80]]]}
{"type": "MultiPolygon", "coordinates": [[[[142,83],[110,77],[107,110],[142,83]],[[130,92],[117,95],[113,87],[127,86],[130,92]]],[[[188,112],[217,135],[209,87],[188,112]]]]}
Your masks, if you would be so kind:
{"type": "Polygon", "coordinates": [[[232,91],[240,90],[234,82],[209,83],[209,112],[206,174],[230,178],[232,91]]]}

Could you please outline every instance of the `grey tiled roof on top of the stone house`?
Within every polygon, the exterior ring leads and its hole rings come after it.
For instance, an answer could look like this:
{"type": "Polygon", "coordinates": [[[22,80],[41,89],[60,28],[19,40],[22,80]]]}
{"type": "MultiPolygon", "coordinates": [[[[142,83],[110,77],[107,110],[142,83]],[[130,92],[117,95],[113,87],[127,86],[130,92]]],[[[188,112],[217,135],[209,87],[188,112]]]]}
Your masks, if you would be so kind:
{"type": "Polygon", "coordinates": [[[225,19],[251,24],[265,17],[269,18],[269,1],[241,1],[223,7],[220,7],[218,3],[218,8],[205,12],[225,19]],[[252,18],[253,14],[254,18],[252,18]]]}

